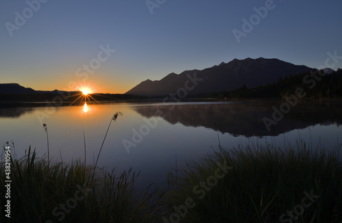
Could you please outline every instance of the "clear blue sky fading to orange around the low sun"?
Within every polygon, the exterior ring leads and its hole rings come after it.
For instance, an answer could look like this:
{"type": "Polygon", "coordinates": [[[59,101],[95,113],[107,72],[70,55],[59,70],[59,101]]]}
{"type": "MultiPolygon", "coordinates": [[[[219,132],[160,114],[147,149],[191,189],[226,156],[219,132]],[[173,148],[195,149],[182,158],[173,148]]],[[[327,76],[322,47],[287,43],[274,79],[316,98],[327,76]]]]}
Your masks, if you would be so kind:
{"type": "Polygon", "coordinates": [[[246,57],[342,68],[341,0],[0,2],[0,83],[124,93],[246,57]],[[337,57],[339,58],[339,57],[337,57]]]}

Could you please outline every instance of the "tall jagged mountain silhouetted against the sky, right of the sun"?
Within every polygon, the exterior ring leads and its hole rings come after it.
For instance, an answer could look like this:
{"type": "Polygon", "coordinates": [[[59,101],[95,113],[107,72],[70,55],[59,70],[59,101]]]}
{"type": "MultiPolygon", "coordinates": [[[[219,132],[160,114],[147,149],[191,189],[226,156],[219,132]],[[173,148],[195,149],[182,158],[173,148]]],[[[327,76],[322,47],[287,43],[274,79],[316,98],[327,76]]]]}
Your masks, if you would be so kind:
{"type": "MultiPolygon", "coordinates": [[[[140,96],[164,96],[170,93],[176,93],[177,89],[184,88],[185,82],[190,77],[202,79],[193,90],[187,94],[207,94],[211,92],[229,92],[241,86],[254,88],[256,86],[265,86],[267,83],[273,83],[280,77],[284,78],[290,75],[306,73],[313,68],[303,65],[294,65],[278,59],[257,59],[246,58],[244,60],[234,59],[231,62],[206,68],[204,70],[185,70],[177,75],[170,73],[159,81],[147,79],[142,81],[126,94],[140,96]],[[188,76],[187,76],[188,75],[188,76]]],[[[189,83],[189,86],[192,86],[189,83]]]]}

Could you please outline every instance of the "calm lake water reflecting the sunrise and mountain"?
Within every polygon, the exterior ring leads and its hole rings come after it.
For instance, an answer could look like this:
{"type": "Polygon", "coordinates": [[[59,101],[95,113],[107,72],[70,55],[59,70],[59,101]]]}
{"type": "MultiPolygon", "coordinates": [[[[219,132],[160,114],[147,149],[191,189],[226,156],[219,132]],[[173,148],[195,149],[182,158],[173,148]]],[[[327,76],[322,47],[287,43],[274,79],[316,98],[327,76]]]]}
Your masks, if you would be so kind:
{"type": "Polygon", "coordinates": [[[331,149],[341,144],[342,101],[306,100],[295,107],[281,104],[272,100],[61,107],[0,104],[0,142],[14,142],[17,157],[25,155],[30,145],[42,157],[47,154],[45,123],[50,157],[60,160],[62,154],[62,160],[68,162],[84,159],[84,132],[87,163],[92,164],[112,116],[122,112],[111,122],[98,166],[116,167],[118,173],[130,167],[142,171],[137,187],[150,183],[165,187],[168,171],[176,168],[176,163],[180,169],[186,161],[196,161],[219,144],[233,148],[269,142],[283,147],[284,142],[295,145],[299,138],[314,148],[322,144],[331,149]],[[286,114],[283,118],[275,115],[279,120],[272,122],[268,131],[263,120],[271,120],[274,109],[286,114]]]}

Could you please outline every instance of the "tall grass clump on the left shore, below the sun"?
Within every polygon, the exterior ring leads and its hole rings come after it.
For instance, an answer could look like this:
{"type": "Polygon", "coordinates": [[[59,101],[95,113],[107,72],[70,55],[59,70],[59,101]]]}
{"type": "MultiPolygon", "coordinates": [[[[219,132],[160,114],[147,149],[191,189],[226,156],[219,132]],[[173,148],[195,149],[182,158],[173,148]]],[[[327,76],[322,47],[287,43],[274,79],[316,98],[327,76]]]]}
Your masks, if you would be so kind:
{"type": "MultiPolygon", "coordinates": [[[[5,185],[1,163],[0,183],[5,185]]],[[[80,160],[65,164],[36,157],[29,148],[21,159],[12,160],[11,218],[1,222],[155,222],[160,213],[155,192],[134,190],[139,174],[131,169],[96,170],[80,160]],[[86,190],[86,196],[82,193],[86,190]],[[83,198],[82,198],[83,197],[83,198]],[[79,199],[75,199],[79,198],[79,199]],[[75,203],[76,201],[76,203],[75,203]],[[62,206],[66,211],[62,209],[62,206]],[[71,208],[70,208],[71,207],[71,208]]],[[[0,190],[1,207],[5,191],[0,190]]],[[[2,209],[2,208],[1,208],[2,209]]]]}

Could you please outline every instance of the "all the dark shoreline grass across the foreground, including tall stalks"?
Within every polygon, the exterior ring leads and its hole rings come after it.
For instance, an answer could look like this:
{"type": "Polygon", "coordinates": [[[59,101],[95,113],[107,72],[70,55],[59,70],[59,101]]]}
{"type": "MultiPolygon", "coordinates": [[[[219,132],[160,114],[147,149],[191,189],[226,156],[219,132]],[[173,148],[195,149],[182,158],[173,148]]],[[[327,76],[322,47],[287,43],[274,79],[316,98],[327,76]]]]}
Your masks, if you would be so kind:
{"type": "MultiPolygon", "coordinates": [[[[12,155],[11,219],[1,213],[1,222],[342,222],[339,148],[220,145],[170,172],[166,192],[136,192],[139,172],[97,168],[103,143],[93,166],[38,158],[31,148],[21,159],[12,155]]],[[[1,159],[1,185],[5,176],[1,159]]]]}

